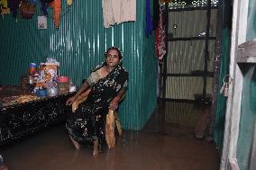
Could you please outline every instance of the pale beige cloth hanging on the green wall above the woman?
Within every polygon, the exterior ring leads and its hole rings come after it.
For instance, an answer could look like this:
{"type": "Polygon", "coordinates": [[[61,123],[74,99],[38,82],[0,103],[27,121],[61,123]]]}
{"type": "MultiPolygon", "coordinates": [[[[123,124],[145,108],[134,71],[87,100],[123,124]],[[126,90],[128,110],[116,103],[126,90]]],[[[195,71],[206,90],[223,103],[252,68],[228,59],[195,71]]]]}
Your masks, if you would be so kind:
{"type": "Polygon", "coordinates": [[[136,21],[136,0],[102,0],[102,9],[105,28],[136,21]]]}

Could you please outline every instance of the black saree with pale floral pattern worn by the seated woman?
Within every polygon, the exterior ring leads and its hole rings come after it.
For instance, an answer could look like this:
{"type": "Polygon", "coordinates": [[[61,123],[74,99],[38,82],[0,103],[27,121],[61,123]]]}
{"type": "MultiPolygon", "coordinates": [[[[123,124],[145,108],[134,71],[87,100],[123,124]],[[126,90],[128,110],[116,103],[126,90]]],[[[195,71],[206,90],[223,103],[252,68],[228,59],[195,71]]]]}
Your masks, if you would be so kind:
{"type": "MultiPolygon", "coordinates": [[[[101,67],[96,67],[92,72],[101,67]]],[[[109,104],[122,88],[126,88],[127,81],[127,71],[118,65],[107,76],[91,85],[87,101],[79,104],[66,123],[72,139],[79,144],[92,143],[96,139],[100,145],[105,143],[105,116],[109,104]]]]}

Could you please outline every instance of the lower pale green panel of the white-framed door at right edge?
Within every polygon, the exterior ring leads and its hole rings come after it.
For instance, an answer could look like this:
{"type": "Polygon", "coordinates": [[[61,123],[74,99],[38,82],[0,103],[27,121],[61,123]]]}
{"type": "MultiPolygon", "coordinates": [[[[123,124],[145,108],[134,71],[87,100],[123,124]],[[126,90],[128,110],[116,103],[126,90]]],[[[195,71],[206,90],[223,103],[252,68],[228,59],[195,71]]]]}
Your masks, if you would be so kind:
{"type": "MultiPolygon", "coordinates": [[[[246,64],[243,70],[241,118],[237,141],[237,161],[240,170],[248,170],[251,160],[254,122],[256,120],[256,69],[246,64]]],[[[255,144],[254,144],[255,145],[255,144]]]]}

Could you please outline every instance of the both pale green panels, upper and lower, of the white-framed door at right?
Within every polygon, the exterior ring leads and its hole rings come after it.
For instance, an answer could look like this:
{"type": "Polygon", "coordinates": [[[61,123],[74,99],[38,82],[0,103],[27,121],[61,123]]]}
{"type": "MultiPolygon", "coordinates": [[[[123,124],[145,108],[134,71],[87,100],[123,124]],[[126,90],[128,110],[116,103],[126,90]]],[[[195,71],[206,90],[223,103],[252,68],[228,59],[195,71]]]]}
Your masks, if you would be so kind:
{"type": "MultiPolygon", "coordinates": [[[[256,38],[256,2],[249,1],[246,40],[256,38]]],[[[255,64],[244,64],[242,67],[242,102],[237,141],[236,158],[241,170],[251,169],[251,149],[253,143],[254,124],[256,121],[256,69],[255,64]]]]}

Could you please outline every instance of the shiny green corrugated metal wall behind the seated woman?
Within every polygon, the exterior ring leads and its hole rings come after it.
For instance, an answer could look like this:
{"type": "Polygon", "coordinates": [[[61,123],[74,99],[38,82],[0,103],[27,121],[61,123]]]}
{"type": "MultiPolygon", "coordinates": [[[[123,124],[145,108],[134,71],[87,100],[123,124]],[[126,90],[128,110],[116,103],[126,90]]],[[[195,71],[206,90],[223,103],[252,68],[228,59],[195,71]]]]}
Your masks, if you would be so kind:
{"type": "MultiPolygon", "coordinates": [[[[62,0],[59,30],[48,18],[48,29],[37,29],[37,15],[17,22],[11,15],[0,19],[0,84],[19,85],[20,76],[29,63],[56,58],[59,75],[71,77],[78,85],[92,67],[104,59],[110,46],[123,49],[123,66],[129,71],[129,91],[121,106],[124,129],[140,130],[156,106],[157,59],[153,52],[153,35],[147,38],[145,1],[137,1],[137,21],[105,29],[101,0],[73,1],[69,11],[62,0]]],[[[50,11],[51,15],[51,11],[50,11]]]]}

